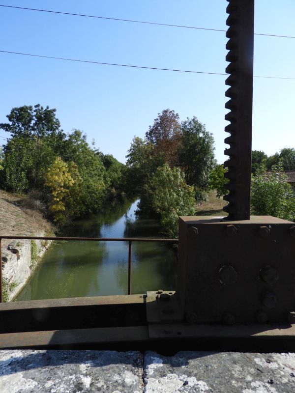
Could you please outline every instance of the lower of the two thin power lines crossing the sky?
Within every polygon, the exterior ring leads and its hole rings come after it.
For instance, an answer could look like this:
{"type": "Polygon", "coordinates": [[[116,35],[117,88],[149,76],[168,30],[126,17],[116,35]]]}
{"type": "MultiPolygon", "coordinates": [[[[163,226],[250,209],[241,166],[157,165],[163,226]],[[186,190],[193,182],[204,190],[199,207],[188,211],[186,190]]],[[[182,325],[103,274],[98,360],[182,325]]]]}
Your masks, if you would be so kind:
{"type": "MultiPolygon", "coordinates": [[[[205,71],[193,71],[193,70],[178,70],[175,68],[160,68],[160,67],[146,67],[142,65],[131,65],[131,64],[117,64],[117,63],[105,63],[102,61],[94,61],[94,60],[81,60],[77,58],[67,58],[67,57],[56,57],[56,56],[45,56],[45,55],[34,55],[31,53],[21,53],[21,52],[11,52],[11,51],[1,51],[0,53],[8,53],[13,55],[21,55],[21,56],[32,56],[32,57],[42,57],[42,58],[52,58],[55,60],[66,60],[66,61],[76,61],[80,63],[91,63],[91,64],[102,64],[102,65],[115,65],[118,67],[131,67],[131,68],[144,68],[147,70],[160,70],[160,71],[175,71],[175,72],[186,72],[192,74],[208,74],[208,75],[229,75],[221,72],[205,72],[205,71]]],[[[290,79],[295,80],[295,78],[286,78],[286,77],[271,77],[271,76],[263,76],[263,75],[254,75],[254,78],[267,78],[267,79],[290,79]]]]}

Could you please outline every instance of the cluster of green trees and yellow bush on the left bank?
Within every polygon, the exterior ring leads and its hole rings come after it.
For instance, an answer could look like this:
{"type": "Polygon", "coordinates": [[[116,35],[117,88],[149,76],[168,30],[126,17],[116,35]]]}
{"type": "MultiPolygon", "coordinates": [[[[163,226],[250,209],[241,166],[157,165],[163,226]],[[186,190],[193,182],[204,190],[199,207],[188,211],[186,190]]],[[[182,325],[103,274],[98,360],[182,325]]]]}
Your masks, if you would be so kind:
{"type": "Polygon", "coordinates": [[[0,124],[11,135],[1,152],[0,187],[29,193],[63,224],[120,197],[124,165],[89,146],[81,131],[66,134],[55,112],[39,104],[22,106],[0,124]]]}

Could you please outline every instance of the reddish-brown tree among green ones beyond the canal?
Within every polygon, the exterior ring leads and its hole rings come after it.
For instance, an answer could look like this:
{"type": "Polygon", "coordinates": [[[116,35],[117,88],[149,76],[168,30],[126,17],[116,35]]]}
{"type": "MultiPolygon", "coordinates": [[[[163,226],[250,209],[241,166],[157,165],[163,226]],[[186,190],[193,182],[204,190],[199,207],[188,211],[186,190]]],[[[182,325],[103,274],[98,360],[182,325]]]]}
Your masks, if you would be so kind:
{"type": "Polygon", "coordinates": [[[165,109],[158,113],[146,132],[146,139],[155,146],[156,154],[162,154],[171,167],[177,165],[177,146],[181,135],[179,115],[165,109]]]}

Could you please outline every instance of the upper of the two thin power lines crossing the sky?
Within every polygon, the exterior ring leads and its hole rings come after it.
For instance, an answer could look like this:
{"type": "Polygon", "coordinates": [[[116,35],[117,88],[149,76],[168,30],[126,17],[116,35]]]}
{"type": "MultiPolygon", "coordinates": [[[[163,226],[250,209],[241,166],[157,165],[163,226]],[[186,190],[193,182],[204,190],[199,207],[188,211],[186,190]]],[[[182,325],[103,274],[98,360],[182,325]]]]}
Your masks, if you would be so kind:
{"type": "MultiPolygon", "coordinates": [[[[173,28],[192,28],[192,29],[197,29],[197,30],[224,31],[224,32],[227,31],[227,30],[222,30],[219,28],[200,28],[200,27],[196,27],[196,26],[172,25],[172,24],[168,24],[168,23],[136,21],[136,20],[132,20],[132,19],[119,19],[119,18],[110,18],[110,17],[106,17],[106,16],[75,14],[73,12],[52,11],[52,10],[48,10],[48,9],[17,7],[15,5],[0,4],[0,7],[17,8],[17,9],[23,9],[23,10],[28,10],[28,11],[48,12],[48,13],[52,13],[52,14],[61,14],[61,15],[82,16],[85,18],[107,19],[107,20],[119,21],[119,22],[142,23],[145,25],[168,26],[168,27],[173,27],[173,28]]],[[[295,38],[295,36],[291,36],[291,35],[264,34],[264,33],[254,33],[254,34],[255,35],[264,35],[267,37],[295,38]]]]}

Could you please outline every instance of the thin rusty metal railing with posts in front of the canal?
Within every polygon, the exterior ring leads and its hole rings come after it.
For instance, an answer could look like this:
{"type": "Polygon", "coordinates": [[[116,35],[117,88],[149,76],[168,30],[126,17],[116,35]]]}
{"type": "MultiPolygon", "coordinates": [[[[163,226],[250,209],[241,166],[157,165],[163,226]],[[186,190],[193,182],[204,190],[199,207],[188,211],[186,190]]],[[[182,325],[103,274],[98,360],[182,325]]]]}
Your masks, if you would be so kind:
{"type": "Polygon", "coordinates": [[[0,303],[3,303],[2,286],[2,239],[12,240],[74,240],[90,242],[128,242],[128,295],[131,295],[132,279],[132,242],[178,243],[178,239],[149,239],[133,237],[50,237],[50,236],[0,236],[0,303]]]}

